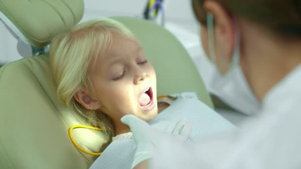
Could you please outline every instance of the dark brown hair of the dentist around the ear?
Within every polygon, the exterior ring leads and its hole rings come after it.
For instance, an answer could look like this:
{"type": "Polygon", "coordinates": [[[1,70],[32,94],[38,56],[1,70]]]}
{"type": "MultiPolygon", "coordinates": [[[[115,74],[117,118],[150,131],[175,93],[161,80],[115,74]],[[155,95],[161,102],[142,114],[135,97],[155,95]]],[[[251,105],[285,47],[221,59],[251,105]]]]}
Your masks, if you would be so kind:
{"type": "MultiPolygon", "coordinates": [[[[195,16],[206,24],[205,0],[192,0],[195,16]]],[[[215,0],[231,15],[241,16],[274,32],[301,37],[301,0],[215,0]]]]}

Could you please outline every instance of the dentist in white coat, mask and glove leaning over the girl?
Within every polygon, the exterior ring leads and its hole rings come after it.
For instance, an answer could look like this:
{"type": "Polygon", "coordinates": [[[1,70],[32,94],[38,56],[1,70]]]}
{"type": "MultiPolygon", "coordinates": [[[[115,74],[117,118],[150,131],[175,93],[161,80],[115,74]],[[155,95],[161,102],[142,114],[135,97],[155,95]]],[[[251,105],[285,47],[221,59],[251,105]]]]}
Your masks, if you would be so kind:
{"type": "MultiPolygon", "coordinates": [[[[301,168],[301,0],[192,0],[211,87],[254,114],[240,130],[185,144],[133,115],[135,169],[301,168]]],[[[244,110],[243,110],[244,111],[244,110]]]]}

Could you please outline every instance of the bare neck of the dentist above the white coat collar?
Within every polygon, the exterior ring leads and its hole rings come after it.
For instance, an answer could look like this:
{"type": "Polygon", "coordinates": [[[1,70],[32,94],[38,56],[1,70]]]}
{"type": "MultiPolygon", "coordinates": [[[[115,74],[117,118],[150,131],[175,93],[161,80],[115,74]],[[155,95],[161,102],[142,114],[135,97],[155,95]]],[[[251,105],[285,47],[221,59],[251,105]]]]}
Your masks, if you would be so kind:
{"type": "Polygon", "coordinates": [[[269,34],[251,31],[243,35],[241,67],[260,102],[273,86],[301,63],[301,41],[284,40],[269,34]]]}

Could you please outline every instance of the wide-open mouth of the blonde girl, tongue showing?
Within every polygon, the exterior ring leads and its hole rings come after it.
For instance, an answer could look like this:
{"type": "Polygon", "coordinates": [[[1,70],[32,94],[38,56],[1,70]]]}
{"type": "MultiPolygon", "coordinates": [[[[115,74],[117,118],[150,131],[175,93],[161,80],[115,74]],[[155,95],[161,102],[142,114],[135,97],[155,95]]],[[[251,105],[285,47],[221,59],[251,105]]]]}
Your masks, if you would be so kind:
{"type": "Polygon", "coordinates": [[[154,107],[153,92],[151,87],[145,89],[145,91],[139,97],[138,102],[139,106],[145,111],[149,111],[154,107]]]}

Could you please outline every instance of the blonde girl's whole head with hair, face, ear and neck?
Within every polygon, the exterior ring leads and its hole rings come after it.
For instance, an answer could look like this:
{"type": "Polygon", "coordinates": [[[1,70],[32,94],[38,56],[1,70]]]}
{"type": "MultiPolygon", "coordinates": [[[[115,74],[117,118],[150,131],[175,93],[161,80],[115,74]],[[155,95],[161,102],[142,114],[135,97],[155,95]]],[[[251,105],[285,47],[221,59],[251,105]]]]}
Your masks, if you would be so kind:
{"type": "Polygon", "coordinates": [[[130,131],[120,121],[124,115],[150,121],[158,113],[155,71],[131,31],[115,20],[90,20],[56,36],[50,67],[58,100],[88,125],[119,135],[113,140],[130,131]]]}

